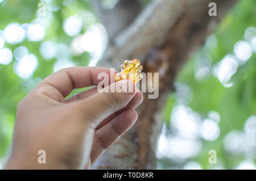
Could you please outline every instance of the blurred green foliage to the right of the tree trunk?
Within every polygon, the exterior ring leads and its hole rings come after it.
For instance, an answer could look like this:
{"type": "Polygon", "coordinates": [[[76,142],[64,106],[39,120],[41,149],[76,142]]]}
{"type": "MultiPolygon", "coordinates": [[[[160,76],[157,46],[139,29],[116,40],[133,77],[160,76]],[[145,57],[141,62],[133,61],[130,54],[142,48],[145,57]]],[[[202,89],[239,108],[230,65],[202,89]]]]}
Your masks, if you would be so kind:
{"type": "MultiPolygon", "coordinates": [[[[185,83],[192,92],[193,98],[188,106],[193,111],[200,113],[202,117],[207,117],[211,110],[220,114],[220,136],[214,141],[203,141],[200,153],[190,159],[199,162],[203,169],[212,169],[214,164],[208,162],[209,150],[217,151],[217,158],[222,162],[222,166],[226,169],[234,169],[243,159],[245,155],[230,155],[223,146],[225,135],[230,131],[243,131],[245,121],[256,114],[256,54],[253,56],[233,75],[230,81],[233,86],[224,87],[218,78],[208,74],[203,79],[195,78],[195,64],[198,58],[204,58],[202,55],[207,54],[214,65],[222,60],[227,54],[233,53],[234,45],[237,41],[244,40],[245,30],[248,27],[256,27],[256,1],[241,1],[234,9],[229,12],[224,20],[220,23],[214,32],[217,44],[214,47],[203,48],[197,52],[187,62],[180,71],[176,81],[185,83]]],[[[170,116],[172,108],[176,102],[176,94],[172,93],[167,101],[163,119],[170,126],[170,116]]],[[[185,162],[187,162],[186,160],[185,162]]],[[[161,159],[164,167],[179,165],[161,159]]],[[[255,164],[255,159],[254,159],[255,164]]],[[[182,165],[182,164],[181,164],[182,165]]]]}

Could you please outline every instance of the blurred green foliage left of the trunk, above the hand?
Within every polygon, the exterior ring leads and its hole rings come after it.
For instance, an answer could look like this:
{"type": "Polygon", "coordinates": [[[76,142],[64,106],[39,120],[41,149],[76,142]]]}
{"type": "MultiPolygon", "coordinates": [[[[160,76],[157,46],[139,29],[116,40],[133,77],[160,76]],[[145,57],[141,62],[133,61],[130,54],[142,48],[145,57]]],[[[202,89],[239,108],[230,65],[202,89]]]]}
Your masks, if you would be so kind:
{"type": "MultiPolygon", "coordinates": [[[[31,23],[37,18],[38,4],[36,0],[9,0],[0,3],[0,30],[4,30],[10,23],[31,23]]],[[[59,7],[59,10],[52,11],[53,22],[51,27],[46,29],[46,36],[43,41],[51,40],[56,43],[71,44],[73,37],[68,36],[63,30],[63,22],[68,16],[75,15],[79,11],[91,11],[88,1],[73,1],[70,6],[63,5],[63,1],[52,1],[52,6],[59,7]]],[[[95,23],[95,22],[92,22],[95,23]]],[[[88,24],[89,26],[89,24],[88,24]]],[[[82,32],[86,31],[86,27],[82,32]]],[[[82,33],[81,32],[81,33],[82,33]]],[[[12,45],[5,43],[6,48],[14,52],[15,48],[23,45],[30,53],[34,53],[38,58],[38,68],[30,79],[22,79],[14,73],[15,59],[9,65],[0,64],[0,161],[5,157],[11,145],[16,106],[18,102],[42,79],[53,73],[53,65],[56,58],[44,60],[39,48],[43,41],[33,42],[24,39],[21,43],[12,45]]],[[[69,57],[75,65],[86,66],[89,62],[89,53],[85,52],[80,56],[69,57]]],[[[72,94],[79,92],[75,90],[72,94]]],[[[71,95],[72,95],[71,94],[71,95]]]]}

